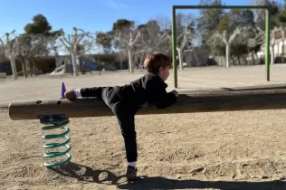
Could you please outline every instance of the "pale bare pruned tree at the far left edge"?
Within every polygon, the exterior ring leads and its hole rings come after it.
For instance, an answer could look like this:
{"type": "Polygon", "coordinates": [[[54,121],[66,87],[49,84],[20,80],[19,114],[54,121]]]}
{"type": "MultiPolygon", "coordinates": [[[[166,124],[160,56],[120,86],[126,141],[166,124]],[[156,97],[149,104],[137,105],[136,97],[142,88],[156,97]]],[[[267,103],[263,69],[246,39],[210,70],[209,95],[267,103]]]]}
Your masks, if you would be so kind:
{"type": "Polygon", "coordinates": [[[12,31],[11,33],[5,33],[5,40],[0,38],[0,48],[1,51],[4,52],[5,57],[8,58],[11,63],[13,78],[16,80],[18,77],[15,59],[19,54],[19,45],[15,31],[12,31]],[[11,36],[14,36],[14,38],[11,36]]]}

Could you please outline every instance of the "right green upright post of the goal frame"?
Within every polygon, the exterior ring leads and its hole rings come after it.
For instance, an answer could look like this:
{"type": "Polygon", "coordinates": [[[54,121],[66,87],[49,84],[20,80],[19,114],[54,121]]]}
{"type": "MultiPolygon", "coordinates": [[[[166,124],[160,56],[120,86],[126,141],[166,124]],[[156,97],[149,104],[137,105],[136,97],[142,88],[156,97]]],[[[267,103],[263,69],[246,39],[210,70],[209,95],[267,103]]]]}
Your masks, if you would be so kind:
{"type": "Polygon", "coordinates": [[[270,52],[270,15],[269,15],[269,8],[265,10],[265,67],[266,67],[266,80],[270,81],[270,59],[269,59],[269,52],[270,52]]]}

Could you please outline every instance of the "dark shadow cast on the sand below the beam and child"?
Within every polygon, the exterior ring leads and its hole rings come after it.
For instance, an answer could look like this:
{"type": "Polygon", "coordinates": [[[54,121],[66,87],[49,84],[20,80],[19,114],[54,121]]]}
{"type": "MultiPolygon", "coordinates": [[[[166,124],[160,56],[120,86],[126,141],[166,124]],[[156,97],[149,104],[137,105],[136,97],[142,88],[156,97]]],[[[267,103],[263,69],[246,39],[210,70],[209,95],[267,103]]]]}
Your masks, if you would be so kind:
{"type": "MultiPolygon", "coordinates": [[[[116,185],[119,189],[205,189],[214,188],[221,190],[282,190],[286,189],[286,181],[271,182],[227,182],[227,181],[199,181],[199,180],[176,180],[167,179],[161,176],[139,176],[138,180],[133,183],[126,183],[126,180],[119,183],[125,176],[116,176],[108,170],[93,170],[89,166],[81,166],[69,163],[66,166],[51,168],[52,171],[62,175],[75,177],[79,181],[86,183],[99,183],[106,185],[116,185]],[[104,179],[100,179],[100,175],[104,174],[104,179]],[[109,183],[107,183],[109,182],[109,183]],[[125,182],[125,183],[124,183],[125,182]]],[[[102,177],[101,177],[102,178],[102,177]]]]}

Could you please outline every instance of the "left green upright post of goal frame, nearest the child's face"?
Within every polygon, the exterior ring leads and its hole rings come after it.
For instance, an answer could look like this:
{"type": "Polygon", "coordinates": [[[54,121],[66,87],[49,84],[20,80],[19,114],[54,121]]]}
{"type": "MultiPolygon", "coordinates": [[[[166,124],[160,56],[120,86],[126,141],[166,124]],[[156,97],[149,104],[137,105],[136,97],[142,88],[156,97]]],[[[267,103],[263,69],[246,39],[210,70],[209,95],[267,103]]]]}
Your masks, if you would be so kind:
{"type": "Polygon", "coordinates": [[[174,72],[174,86],[177,88],[177,69],[176,69],[176,7],[172,6],[172,60],[174,72]]]}

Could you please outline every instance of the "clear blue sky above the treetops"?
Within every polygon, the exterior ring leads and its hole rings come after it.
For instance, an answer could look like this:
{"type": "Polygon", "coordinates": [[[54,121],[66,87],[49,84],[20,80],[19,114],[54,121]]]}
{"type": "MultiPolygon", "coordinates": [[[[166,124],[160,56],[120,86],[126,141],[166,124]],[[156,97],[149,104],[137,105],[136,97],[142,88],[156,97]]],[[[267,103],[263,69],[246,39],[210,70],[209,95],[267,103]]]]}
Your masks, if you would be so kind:
{"type": "MultiPolygon", "coordinates": [[[[282,0],[279,0],[280,2],[282,0]]],[[[225,5],[252,5],[253,0],[223,0],[225,5]]],[[[24,25],[35,14],[47,17],[53,30],[62,28],[71,33],[76,26],[95,33],[109,31],[119,18],[143,24],[157,15],[171,16],[172,5],[198,5],[199,0],[2,0],[0,35],[24,33],[24,25]]]]}

